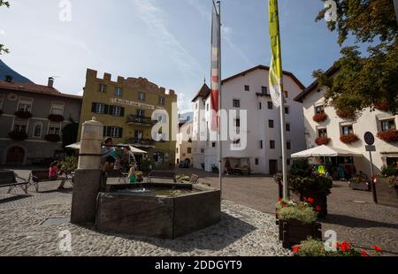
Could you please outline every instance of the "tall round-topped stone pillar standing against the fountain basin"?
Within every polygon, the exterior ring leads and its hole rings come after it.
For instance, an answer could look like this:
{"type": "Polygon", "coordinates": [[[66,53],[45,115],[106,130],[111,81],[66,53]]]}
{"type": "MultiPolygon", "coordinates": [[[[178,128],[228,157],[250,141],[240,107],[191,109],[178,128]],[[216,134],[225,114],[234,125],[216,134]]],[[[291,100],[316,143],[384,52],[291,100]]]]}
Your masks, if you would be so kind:
{"type": "Polygon", "coordinates": [[[87,224],[96,221],[96,197],[101,182],[101,143],[103,124],[93,118],[81,129],[78,170],[73,183],[71,222],[87,224]]]}

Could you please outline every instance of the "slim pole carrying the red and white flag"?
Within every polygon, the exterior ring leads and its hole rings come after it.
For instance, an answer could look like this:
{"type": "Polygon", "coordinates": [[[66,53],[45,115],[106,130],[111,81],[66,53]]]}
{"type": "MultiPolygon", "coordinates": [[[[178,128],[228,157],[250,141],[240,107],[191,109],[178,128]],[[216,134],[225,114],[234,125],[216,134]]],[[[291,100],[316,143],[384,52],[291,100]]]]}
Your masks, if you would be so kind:
{"type": "Polygon", "coordinates": [[[222,96],[221,96],[221,1],[217,2],[218,4],[218,27],[219,27],[219,35],[218,35],[218,149],[219,149],[219,167],[218,167],[218,182],[219,182],[219,191],[221,194],[223,193],[223,142],[221,140],[221,110],[222,110],[222,96]]]}

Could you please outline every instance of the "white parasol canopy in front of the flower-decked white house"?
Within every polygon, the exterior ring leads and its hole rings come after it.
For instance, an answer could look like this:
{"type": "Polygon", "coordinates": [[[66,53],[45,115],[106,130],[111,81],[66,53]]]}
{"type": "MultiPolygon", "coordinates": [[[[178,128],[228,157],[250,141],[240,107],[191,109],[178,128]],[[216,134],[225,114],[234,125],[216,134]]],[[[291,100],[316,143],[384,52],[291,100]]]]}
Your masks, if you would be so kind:
{"type": "Polygon", "coordinates": [[[341,148],[332,148],[327,146],[320,146],[317,148],[310,148],[302,152],[292,154],[292,158],[309,158],[309,157],[362,157],[361,153],[356,153],[341,148]]]}

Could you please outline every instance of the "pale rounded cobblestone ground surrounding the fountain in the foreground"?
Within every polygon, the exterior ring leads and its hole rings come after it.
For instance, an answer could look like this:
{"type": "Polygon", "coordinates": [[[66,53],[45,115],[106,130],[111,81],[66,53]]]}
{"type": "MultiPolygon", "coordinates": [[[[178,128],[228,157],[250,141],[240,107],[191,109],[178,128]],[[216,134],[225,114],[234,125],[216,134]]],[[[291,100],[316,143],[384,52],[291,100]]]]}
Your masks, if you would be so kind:
{"type": "Polygon", "coordinates": [[[67,221],[47,225],[49,218],[70,217],[72,194],[56,188],[43,183],[43,192],[30,196],[0,189],[0,255],[291,255],[281,247],[272,215],[228,201],[218,225],[177,240],[100,233],[67,221]],[[58,248],[63,231],[71,232],[72,252],[58,248]]]}

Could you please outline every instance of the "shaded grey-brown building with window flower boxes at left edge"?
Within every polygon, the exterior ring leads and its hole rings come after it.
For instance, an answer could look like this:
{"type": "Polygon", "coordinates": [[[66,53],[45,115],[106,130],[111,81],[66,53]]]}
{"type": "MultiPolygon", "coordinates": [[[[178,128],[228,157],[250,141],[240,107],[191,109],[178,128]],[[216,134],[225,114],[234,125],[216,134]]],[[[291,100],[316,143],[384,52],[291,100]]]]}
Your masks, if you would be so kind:
{"type": "Polygon", "coordinates": [[[62,130],[80,121],[81,97],[60,93],[53,83],[0,81],[1,164],[41,164],[63,151],[62,130]]]}

